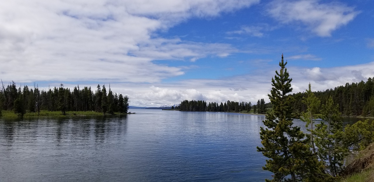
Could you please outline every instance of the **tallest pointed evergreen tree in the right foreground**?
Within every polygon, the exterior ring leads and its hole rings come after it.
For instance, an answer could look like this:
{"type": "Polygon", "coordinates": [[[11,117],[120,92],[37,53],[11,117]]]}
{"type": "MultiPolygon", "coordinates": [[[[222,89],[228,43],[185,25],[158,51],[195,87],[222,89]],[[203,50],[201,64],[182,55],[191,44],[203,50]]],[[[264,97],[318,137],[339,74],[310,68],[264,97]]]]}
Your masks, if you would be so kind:
{"type": "Polygon", "coordinates": [[[275,71],[272,78],[272,90],[269,98],[273,110],[268,112],[263,121],[266,128],[260,128],[263,147],[257,147],[266,160],[264,170],[273,172],[273,180],[265,181],[319,181],[324,179],[323,164],[310,151],[310,140],[300,127],[292,122],[292,97],[286,96],[292,91],[291,81],[286,63],[279,62],[281,70],[275,71]]]}

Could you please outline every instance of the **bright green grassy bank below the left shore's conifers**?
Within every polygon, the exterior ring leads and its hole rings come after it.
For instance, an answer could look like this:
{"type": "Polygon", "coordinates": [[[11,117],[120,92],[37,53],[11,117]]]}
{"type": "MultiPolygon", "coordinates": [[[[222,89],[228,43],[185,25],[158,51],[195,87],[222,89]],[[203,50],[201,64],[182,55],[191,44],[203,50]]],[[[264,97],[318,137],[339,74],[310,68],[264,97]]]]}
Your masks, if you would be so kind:
{"type": "MultiPolygon", "coordinates": [[[[14,113],[13,111],[9,110],[2,110],[2,117],[3,118],[18,118],[19,116],[14,113]]],[[[115,113],[119,115],[120,113],[115,113]]],[[[122,113],[123,114],[123,113],[122,113]]],[[[40,117],[40,116],[100,116],[102,115],[102,112],[95,112],[95,111],[67,111],[66,115],[62,115],[61,111],[47,111],[47,110],[41,110],[39,115],[36,112],[27,112],[24,115],[24,118],[34,118],[34,117],[40,117]]]]}

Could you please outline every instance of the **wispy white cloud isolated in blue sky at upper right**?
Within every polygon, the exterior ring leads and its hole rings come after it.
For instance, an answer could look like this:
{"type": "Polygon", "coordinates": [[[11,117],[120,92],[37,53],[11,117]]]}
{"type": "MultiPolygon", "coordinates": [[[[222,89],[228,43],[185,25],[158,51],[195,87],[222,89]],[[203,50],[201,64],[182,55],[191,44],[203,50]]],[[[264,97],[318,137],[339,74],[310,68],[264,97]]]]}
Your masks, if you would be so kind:
{"type": "Polygon", "coordinates": [[[278,21],[301,22],[321,37],[348,24],[357,15],[353,7],[341,3],[320,3],[319,0],[273,1],[268,10],[278,21]]]}

